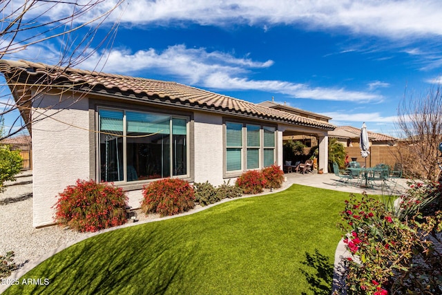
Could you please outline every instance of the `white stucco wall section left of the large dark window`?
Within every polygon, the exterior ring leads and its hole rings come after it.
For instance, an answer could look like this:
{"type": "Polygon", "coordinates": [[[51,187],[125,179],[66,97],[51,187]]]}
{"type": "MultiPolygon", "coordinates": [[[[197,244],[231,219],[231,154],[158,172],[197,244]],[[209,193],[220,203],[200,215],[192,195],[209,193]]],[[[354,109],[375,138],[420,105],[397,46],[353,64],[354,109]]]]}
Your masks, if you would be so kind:
{"type": "Polygon", "coordinates": [[[75,184],[78,178],[87,180],[90,177],[89,132],[69,126],[89,129],[88,99],[83,98],[75,104],[73,98],[64,97],[61,103],[59,100],[59,95],[46,95],[35,101],[33,105],[38,107],[32,109],[33,122],[45,117],[32,124],[34,227],[54,223],[52,206],[58,193],[75,184]],[[46,107],[49,109],[44,110],[46,107]]]}

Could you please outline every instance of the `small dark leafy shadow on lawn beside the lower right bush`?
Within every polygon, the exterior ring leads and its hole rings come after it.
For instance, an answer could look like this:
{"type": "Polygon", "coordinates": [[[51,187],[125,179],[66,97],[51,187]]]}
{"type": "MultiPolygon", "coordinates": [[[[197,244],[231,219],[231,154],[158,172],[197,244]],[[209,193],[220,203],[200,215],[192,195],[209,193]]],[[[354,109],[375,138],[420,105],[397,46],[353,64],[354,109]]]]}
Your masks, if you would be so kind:
{"type": "MultiPolygon", "coordinates": [[[[315,249],[314,254],[305,252],[305,261],[301,262],[307,266],[306,269],[300,269],[305,276],[309,289],[315,295],[329,295],[332,292],[333,282],[333,263],[329,262],[329,258],[320,254],[318,249],[315,249]]],[[[307,293],[302,292],[302,295],[307,293]]]]}

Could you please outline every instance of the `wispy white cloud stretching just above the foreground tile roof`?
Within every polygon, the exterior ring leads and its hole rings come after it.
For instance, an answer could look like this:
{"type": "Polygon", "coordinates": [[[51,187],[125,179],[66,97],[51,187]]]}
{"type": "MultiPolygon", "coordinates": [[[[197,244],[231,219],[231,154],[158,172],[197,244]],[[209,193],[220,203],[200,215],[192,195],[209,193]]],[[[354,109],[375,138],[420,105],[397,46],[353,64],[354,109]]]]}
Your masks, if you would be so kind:
{"type": "Polygon", "coordinates": [[[381,95],[347,91],[344,88],[309,86],[278,80],[253,80],[247,77],[253,68],[268,68],[273,61],[253,61],[237,58],[227,53],[207,52],[205,48],[186,48],[184,45],[170,46],[163,51],[154,49],[131,53],[114,49],[104,55],[95,54],[81,64],[90,70],[103,68],[104,72],[134,74],[160,70],[161,73],[177,77],[181,82],[221,90],[255,90],[282,93],[290,97],[351,101],[380,102],[381,95]],[[106,64],[104,64],[104,55],[106,64]],[[98,64],[98,66],[97,66],[98,64]]]}

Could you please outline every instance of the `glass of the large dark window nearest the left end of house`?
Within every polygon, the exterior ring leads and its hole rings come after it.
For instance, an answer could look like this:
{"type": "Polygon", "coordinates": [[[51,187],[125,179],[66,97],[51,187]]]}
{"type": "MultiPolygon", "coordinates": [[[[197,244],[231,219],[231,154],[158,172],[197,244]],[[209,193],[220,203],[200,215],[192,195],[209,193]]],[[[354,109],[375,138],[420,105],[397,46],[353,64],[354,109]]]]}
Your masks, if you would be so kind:
{"type": "Polygon", "coordinates": [[[187,174],[184,117],[99,109],[100,181],[187,174]]]}

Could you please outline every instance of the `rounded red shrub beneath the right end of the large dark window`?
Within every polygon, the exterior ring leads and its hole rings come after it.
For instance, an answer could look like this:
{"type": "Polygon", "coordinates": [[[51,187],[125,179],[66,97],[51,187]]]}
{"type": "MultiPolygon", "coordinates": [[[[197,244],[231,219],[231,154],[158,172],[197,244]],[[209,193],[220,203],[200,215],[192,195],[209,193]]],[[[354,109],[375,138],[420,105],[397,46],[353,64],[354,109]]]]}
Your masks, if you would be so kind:
{"type": "Polygon", "coordinates": [[[151,182],[143,189],[141,209],[144,213],[175,215],[195,207],[195,193],[189,182],[165,178],[151,182]]]}

